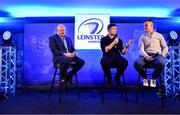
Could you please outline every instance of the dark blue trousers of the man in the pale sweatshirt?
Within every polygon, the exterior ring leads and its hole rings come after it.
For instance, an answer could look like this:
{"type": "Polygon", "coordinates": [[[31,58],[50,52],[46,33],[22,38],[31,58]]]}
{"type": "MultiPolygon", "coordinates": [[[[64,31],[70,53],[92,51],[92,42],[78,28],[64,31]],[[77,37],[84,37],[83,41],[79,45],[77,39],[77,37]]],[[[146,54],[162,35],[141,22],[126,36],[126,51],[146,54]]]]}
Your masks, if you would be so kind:
{"type": "Polygon", "coordinates": [[[156,79],[157,77],[160,77],[161,72],[164,69],[165,66],[165,59],[163,56],[158,55],[154,58],[152,61],[147,61],[144,57],[139,56],[139,58],[134,62],[134,67],[136,71],[144,78],[147,79],[146,72],[143,69],[143,67],[148,64],[154,68],[154,72],[152,75],[152,79],[156,79]]]}

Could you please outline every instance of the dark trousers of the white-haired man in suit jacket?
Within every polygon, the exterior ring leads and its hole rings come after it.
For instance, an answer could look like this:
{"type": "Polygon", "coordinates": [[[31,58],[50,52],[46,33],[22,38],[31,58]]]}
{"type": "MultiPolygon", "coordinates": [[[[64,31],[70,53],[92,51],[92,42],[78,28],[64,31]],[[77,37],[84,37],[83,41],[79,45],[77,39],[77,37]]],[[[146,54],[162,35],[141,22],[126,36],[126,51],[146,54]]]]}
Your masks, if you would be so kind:
{"type": "Polygon", "coordinates": [[[56,63],[60,64],[60,73],[62,79],[67,79],[68,81],[72,80],[73,75],[78,72],[84,65],[84,60],[79,57],[68,58],[66,56],[58,57],[56,63]],[[76,62],[72,64],[72,70],[67,74],[67,69],[71,62],[76,62]],[[67,77],[66,77],[67,76],[67,77]]]}

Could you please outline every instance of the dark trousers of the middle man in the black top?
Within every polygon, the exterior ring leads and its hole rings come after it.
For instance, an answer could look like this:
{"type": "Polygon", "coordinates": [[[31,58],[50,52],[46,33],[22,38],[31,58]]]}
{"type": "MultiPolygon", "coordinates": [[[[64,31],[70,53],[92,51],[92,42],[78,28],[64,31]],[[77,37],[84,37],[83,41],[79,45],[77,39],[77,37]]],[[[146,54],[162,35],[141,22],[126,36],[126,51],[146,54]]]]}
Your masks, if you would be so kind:
{"type": "Polygon", "coordinates": [[[128,66],[128,61],[121,55],[114,57],[103,56],[101,59],[101,66],[105,73],[105,76],[108,78],[108,81],[112,80],[110,69],[112,67],[115,67],[117,69],[115,79],[119,80],[121,74],[126,70],[128,66]]]}

